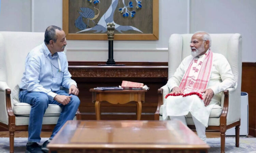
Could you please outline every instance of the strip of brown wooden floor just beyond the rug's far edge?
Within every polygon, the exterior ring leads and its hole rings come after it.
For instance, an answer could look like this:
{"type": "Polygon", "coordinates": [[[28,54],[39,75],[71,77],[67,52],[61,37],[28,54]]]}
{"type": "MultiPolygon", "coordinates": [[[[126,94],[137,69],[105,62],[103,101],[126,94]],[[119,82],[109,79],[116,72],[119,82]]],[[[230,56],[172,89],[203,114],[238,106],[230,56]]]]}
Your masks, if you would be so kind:
{"type": "MultiPolygon", "coordinates": [[[[41,132],[41,138],[48,138],[50,137],[52,132],[41,132]]],[[[0,132],[0,137],[9,137],[8,131],[2,131],[0,132]]],[[[28,132],[26,131],[19,131],[14,133],[14,137],[28,137],[28,132]]],[[[221,137],[221,133],[219,132],[206,132],[207,138],[219,138],[221,137]]]]}

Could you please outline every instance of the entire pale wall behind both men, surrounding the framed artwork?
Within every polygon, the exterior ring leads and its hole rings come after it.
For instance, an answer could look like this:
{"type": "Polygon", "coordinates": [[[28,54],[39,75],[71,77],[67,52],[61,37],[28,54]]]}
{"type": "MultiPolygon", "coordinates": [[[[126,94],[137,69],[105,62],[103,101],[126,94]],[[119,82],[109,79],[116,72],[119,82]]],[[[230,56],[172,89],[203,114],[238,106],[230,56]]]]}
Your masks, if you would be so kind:
{"type": "MultiPolygon", "coordinates": [[[[159,40],[114,41],[114,59],[166,62],[171,34],[204,30],[241,33],[242,59],[255,62],[255,7],[256,0],[159,0],[159,40]]],[[[62,27],[62,0],[1,0],[0,31],[44,32],[48,25],[62,27]]],[[[107,41],[68,40],[67,50],[68,60],[108,58],[107,41]]]]}

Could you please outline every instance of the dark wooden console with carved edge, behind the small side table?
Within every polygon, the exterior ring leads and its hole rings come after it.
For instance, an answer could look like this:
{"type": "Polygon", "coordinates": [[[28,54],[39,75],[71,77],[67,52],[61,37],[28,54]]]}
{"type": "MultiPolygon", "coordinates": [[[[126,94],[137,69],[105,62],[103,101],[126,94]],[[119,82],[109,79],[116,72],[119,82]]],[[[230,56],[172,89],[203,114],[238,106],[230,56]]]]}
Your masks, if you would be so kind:
{"type": "MultiPolygon", "coordinates": [[[[125,66],[99,66],[105,62],[69,61],[69,72],[79,88],[80,106],[83,120],[95,120],[95,103],[92,102],[91,88],[116,87],[123,80],[141,82],[150,90],[145,93],[142,103],[142,120],[154,120],[158,103],[157,90],[167,83],[167,62],[116,62],[125,66]]],[[[136,120],[136,102],[111,104],[102,102],[101,120],[136,120]]]]}

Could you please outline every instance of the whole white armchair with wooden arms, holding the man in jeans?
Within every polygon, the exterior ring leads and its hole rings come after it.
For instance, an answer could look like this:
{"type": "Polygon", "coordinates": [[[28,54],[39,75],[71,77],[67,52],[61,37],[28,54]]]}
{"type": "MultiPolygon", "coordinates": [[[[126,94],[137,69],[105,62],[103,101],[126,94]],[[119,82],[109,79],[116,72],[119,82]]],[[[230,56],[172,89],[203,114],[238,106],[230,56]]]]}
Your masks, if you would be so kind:
{"type": "MultiPolygon", "coordinates": [[[[28,130],[31,110],[30,104],[17,101],[17,93],[11,91],[21,81],[28,52],[43,41],[44,33],[0,32],[0,127],[10,132],[10,152],[14,152],[14,132],[28,130]]],[[[60,112],[58,105],[49,104],[42,130],[53,129],[60,112]]],[[[74,119],[81,119],[79,110],[74,119]]]]}

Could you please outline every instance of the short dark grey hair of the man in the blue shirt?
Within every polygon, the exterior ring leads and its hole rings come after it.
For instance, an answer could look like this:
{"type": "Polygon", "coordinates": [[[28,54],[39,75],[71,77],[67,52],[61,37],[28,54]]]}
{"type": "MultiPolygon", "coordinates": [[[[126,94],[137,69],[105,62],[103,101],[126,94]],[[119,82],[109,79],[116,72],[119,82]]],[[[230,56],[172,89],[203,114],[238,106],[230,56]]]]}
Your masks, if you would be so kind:
{"type": "Polygon", "coordinates": [[[45,33],[44,33],[44,43],[49,44],[50,40],[53,40],[53,42],[57,41],[56,37],[56,29],[61,31],[62,29],[58,26],[55,25],[50,25],[46,28],[45,33]]]}

